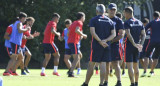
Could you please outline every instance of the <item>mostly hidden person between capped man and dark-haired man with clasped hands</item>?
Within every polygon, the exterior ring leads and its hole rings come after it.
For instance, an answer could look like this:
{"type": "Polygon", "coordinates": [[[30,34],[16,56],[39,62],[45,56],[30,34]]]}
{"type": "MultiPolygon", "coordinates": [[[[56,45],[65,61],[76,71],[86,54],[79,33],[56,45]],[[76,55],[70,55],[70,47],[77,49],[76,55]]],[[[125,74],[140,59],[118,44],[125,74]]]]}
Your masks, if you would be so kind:
{"type": "MultiPolygon", "coordinates": [[[[116,16],[119,17],[120,19],[123,18],[122,14],[120,12],[117,12],[116,16]]],[[[124,24],[124,22],[123,22],[123,24],[124,24]]],[[[125,66],[126,66],[126,62],[124,61],[124,45],[125,45],[125,37],[120,40],[120,48],[121,48],[120,52],[121,52],[121,58],[122,58],[120,65],[122,68],[122,76],[125,75],[125,66]]]]}

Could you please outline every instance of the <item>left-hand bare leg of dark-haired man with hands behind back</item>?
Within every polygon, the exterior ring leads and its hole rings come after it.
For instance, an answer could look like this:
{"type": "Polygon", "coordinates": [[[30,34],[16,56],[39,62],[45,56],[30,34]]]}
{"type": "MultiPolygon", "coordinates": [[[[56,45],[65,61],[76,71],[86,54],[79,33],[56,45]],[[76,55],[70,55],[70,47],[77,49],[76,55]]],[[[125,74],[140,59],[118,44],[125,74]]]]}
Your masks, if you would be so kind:
{"type": "Polygon", "coordinates": [[[130,78],[131,85],[134,85],[134,70],[133,70],[133,62],[127,62],[128,75],[130,78]]]}

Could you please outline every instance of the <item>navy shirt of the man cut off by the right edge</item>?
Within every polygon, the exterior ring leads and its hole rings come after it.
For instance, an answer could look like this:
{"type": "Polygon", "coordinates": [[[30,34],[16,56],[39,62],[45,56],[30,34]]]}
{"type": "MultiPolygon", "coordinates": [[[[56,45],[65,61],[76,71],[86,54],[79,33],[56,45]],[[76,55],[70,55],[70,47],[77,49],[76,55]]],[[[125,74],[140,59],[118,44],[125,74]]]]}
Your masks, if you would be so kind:
{"type": "Polygon", "coordinates": [[[146,30],[150,28],[151,36],[150,42],[159,42],[160,43],[160,19],[157,18],[151,21],[149,24],[146,25],[146,30]]]}

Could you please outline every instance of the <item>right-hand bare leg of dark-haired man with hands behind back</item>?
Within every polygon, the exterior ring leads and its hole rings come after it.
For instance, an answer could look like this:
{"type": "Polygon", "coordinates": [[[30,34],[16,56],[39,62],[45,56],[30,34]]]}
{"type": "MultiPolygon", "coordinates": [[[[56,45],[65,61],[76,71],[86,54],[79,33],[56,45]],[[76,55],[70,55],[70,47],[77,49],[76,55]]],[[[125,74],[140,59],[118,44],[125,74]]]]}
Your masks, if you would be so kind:
{"type": "Polygon", "coordinates": [[[137,62],[133,63],[134,68],[134,76],[135,76],[135,86],[138,86],[138,79],[139,79],[139,64],[137,62]]]}

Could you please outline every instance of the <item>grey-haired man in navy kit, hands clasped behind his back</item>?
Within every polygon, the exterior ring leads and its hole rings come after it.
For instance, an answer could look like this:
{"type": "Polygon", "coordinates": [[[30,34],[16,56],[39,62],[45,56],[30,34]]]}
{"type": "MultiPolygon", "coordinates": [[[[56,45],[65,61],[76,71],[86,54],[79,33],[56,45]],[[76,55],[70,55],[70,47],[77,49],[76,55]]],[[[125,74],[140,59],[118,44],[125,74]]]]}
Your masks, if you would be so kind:
{"type": "Polygon", "coordinates": [[[105,77],[108,77],[110,67],[110,41],[116,36],[114,23],[111,19],[105,16],[106,10],[103,4],[98,4],[96,7],[97,16],[90,20],[90,33],[92,35],[91,54],[88,64],[85,82],[82,86],[88,86],[88,83],[93,75],[95,63],[100,64],[100,85],[104,84],[105,77]],[[107,74],[106,74],[106,71],[107,74]]]}

